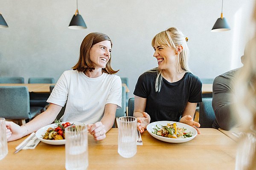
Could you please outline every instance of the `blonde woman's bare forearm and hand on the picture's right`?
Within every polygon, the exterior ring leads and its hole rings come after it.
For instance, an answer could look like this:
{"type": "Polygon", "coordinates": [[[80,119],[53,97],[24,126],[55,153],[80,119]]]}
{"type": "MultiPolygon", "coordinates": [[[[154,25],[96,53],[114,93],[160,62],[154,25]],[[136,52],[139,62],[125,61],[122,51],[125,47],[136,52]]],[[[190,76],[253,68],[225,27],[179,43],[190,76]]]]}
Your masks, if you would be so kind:
{"type": "Polygon", "coordinates": [[[181,116],[180,122],[194,127],[198,131],[198,134],[200,134],[200,130],[198,129],[198,127],[200,127],[200,124],[193,120],[196,104],[197,103],[187,102],[186,107],[181,116]]]}

